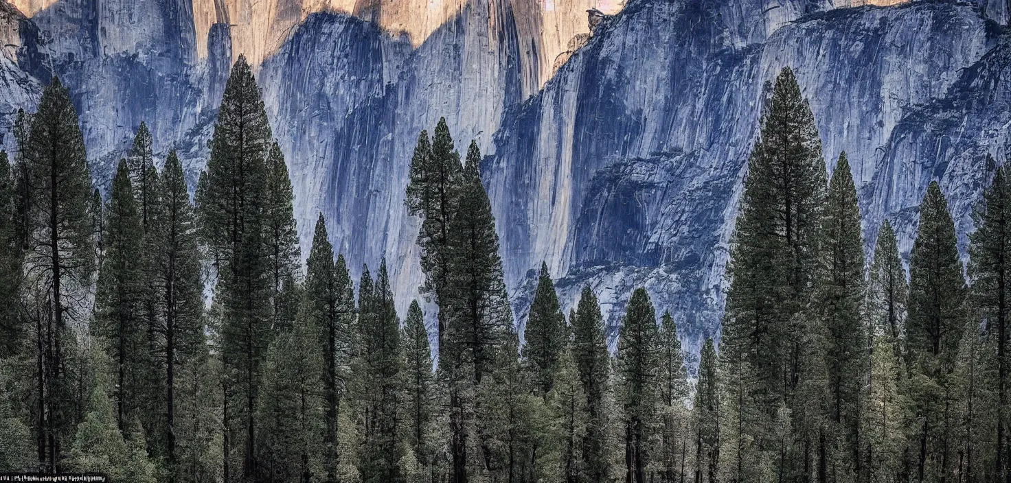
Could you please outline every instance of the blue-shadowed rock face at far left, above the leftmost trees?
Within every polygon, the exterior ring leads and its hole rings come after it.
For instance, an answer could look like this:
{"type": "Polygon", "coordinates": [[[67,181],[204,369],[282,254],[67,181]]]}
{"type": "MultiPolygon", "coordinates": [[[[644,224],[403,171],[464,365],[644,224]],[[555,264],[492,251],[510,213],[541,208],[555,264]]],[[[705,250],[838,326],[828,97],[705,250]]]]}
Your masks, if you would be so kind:
{"type": "Polygon", "coordinates": [[[141,121],[159,151],[196,123],[204,89],[193,78],[189,0],[62,0],[22,22],[20,33],[19,68],[41,83],[59,75],[70,87],[99,186],[141,121]]]}

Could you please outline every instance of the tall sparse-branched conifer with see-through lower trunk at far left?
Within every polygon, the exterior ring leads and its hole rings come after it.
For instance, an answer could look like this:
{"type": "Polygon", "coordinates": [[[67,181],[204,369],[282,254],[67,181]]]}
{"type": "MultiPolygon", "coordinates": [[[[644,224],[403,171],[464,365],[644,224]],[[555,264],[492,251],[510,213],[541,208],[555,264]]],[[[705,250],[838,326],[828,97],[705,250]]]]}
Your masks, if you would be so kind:
{"type": "Polygon", "coordinates": [[[73,439],[79,411],[73,410],[69,355],[76,345],[71,322],[80,320],[84,287],[94,270],[91,180],[84,138],[70,93],[57,78],[42,92],[38,112],[20,147],[19,203],[23,209],[24,264],[28,271],[29,323],[34,325],[36,392],[33,429],[45,472],[59,470],[73,439]]]}

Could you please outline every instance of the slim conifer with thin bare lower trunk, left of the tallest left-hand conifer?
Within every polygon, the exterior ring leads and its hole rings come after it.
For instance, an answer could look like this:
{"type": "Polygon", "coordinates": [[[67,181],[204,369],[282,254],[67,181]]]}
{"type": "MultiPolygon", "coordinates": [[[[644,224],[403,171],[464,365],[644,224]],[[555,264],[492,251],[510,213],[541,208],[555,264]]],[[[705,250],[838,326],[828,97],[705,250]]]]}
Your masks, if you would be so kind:
{"type": "Polygon", "coordinates": [[[150,285],[154,289],[156,354],[164,361],[164,396],[159,412],[165,414],[165,458],[170,472],[176,461],[176,384],[181,370],[205,349],[203,336],[203,282],[196,220],[182,165],[176,153],[165,160],[156,195],[150,207],[148,251],[150,285]]]}

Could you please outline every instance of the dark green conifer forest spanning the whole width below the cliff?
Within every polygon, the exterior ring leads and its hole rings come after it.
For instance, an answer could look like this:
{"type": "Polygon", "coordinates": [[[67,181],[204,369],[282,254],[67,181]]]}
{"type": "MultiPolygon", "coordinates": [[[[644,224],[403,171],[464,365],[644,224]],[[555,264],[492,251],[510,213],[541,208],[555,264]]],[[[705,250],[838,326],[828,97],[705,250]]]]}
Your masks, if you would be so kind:
{"type": "Polygon", "coordinates": [[[990,163],[968,267],[936,183],[908,277],[887,221],[866,266],[848,161],[827,177],[789,69],[748,164],[720,350],[705,343],[694,380],[674,316],[642,288],[611,354],[592,289],[565,314],[542,265],[521,337],[481,155],[471,141],[461,160],[445,120],[421,132],[406,187],[432,341],[420,301],[396,313],[385,262],[352,280],[323,215],[303,269],[285,161],[243,58],[192,201],[143,123],[103,200],[59,80],[13,135],[17,152],[0,153],[0,471],[1011,481],[1011,180],[990,163]]]}

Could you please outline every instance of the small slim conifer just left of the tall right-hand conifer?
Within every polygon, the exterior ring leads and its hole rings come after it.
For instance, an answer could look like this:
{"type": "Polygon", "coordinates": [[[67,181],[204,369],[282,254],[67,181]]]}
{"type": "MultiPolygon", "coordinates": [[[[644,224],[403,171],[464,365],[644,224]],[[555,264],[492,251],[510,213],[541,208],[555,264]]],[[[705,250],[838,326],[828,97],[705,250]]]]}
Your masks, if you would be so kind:
{"type": "Polygon", "coordinates": [[[720,467],[720,381],[713,340],[706,340],[699,362],[699,383],[693,404],[695,481],[716,483],[720,467]]]}

